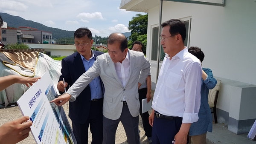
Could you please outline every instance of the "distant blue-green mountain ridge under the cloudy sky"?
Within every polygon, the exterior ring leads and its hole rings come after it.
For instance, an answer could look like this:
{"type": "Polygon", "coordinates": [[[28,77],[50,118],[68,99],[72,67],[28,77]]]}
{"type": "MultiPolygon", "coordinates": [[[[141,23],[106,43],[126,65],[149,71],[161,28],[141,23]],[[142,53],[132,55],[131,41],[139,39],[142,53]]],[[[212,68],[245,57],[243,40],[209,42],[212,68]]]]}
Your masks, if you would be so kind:
{"type": "MultiPolygon", "coordinates": [[[[40,31],[46,31],[46,32],[52,32],[52,38],[58,39],[58,38],[64,38],[64,37],[73,37],[75,31],[66,31],[62,29],[52,28],[48,26],[44,26],[41,23],[34,22],[32,20],[25,20],[22,17],[13,16],[6,13],[1,13],[1,17],[3,20],[7,23],[9,27],[15,27],[18,28],[19,26],[26,26],[38,29],[40,31]]],[[[125,32],[123,33],[126,37],[129,37],[131,35],[131,32],[125,32]]]]}

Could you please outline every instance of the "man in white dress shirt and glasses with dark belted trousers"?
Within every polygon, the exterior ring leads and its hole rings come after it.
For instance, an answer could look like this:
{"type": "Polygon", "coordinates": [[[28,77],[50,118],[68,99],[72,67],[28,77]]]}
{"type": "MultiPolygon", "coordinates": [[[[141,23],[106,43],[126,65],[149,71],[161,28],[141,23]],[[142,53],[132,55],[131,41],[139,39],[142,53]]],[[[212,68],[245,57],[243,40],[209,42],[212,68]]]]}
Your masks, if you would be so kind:
{"type": "Polygon", "coordinates": [[[182,20],[161,24],[160,37],[166,57],[159,73],[149,123],[153,144],[187,144],[190,125],[198,121],[201,99],[201,63],[184,46],[182,20]]]}

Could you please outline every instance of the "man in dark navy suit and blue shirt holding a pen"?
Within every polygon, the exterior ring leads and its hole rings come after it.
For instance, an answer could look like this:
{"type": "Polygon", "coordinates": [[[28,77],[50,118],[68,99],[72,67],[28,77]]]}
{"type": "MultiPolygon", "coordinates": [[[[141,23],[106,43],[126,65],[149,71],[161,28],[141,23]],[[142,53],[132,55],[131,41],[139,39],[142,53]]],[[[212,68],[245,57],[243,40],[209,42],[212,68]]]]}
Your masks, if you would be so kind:
{"type": "MultiPolygon", "coordinates": [[[[92,33],[87,28],[79,28],[74,33],[77,52],[61,61],[61,76],[57,88],[65,92],[86,72],[103,52],[93,51],[92,33]]],[[[88,143],[88,127],[92,133],[91,144],[102,144],[102,106],[104,86],[99,77],[93,79],[81,92],[77,101],[70,102],[69,117],[78,144],[88,143]]]]}

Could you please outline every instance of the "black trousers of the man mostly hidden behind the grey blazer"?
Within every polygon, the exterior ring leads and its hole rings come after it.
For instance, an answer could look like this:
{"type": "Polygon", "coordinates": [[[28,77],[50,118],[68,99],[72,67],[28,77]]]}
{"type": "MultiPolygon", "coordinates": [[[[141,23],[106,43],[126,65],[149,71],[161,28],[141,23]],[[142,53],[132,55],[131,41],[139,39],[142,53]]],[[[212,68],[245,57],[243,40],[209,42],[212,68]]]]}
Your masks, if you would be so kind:
{"type": "Polygon", "coordinates": [[[141,104],[142,99],[146,98],[147,91],[148,91],[147,88],[139,89],[140,116],[141,116],[141,119],[142,119],[142,124],[143,124],[143,129],[145,131],[145,135],[147,137],[151,137],[152,127],[151,127],[151,125],[149,124],[149,121],[148,121],[149,114],[148,114],[148,112],[142,113],[142,104],[141,104]]]}

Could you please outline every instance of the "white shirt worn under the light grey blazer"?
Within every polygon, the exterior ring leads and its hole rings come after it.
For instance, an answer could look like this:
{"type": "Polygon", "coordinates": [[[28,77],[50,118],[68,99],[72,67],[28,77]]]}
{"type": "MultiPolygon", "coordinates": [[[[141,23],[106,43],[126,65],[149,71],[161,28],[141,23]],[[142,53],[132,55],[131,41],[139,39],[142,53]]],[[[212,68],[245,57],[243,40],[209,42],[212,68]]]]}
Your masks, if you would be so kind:
{"type": "MultiPolygon", "coordinates": [[[[120,81],[122,81],[123,86],[125,86],[126,82],[128,81],[128,77],[130,75],[130,60],[129,60],[129,51],[127,52],[127,55],[125,59],[122,61],[122,63],[117,62],[115,63],[116,68],[116,74],[120,81]]],[[[125,101],[125,97],[124,97],[125,101]]]]}

